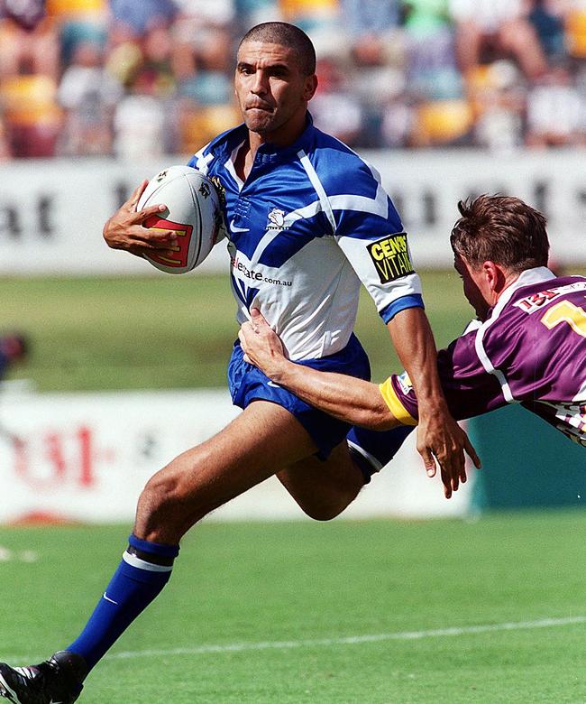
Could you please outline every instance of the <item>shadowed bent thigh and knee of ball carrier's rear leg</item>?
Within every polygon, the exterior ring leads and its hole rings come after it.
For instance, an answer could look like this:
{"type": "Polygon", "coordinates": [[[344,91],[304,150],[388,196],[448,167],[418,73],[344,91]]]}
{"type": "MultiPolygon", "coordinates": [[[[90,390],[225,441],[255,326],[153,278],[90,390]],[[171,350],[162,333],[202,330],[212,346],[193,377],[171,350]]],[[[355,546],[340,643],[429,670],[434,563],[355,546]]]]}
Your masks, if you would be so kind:
{"type": "Polygon", "coordinates": [[[353,463],[345,440],[325,462],[315,456],[307,457],[281,470],[277,477],[316,521],[329,521],[341,514],[364,486],[362,472],[353,463]]]}

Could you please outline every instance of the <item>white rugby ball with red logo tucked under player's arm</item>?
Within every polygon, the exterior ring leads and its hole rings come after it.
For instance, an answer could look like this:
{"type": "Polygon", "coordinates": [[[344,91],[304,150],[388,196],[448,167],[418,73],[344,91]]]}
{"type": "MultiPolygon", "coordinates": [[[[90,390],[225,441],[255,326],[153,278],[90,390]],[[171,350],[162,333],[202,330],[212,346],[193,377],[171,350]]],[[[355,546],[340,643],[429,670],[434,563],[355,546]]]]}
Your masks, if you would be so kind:
{"type": "Polygon", "coordinates": [[[136,209],[163,204],[166,210],[146,218],[143,227],[174,230],[172,255],[152,253],[144,258],[167,273],[186,273],[201,264],[223,236],[222,210],[215,185],[190,166],[169,166],[153,176],[136,209]]]}

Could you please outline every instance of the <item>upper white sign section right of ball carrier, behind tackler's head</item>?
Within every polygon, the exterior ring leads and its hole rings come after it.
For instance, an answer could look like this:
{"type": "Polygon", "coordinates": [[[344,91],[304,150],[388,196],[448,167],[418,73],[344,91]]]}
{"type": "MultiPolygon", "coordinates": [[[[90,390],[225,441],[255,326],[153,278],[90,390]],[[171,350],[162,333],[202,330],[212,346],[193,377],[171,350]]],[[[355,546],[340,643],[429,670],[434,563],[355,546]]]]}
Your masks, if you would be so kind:
{"type": "Polygon", "coordinates": [[[583,150],[486,153],[468,150],[376,152],[380,171],[404,220],[416,264],[453,264],[449,236],[457,203],[483,193],[516,196],[547,218],[551,255],[586,264],[586,169],[583,150]]]}

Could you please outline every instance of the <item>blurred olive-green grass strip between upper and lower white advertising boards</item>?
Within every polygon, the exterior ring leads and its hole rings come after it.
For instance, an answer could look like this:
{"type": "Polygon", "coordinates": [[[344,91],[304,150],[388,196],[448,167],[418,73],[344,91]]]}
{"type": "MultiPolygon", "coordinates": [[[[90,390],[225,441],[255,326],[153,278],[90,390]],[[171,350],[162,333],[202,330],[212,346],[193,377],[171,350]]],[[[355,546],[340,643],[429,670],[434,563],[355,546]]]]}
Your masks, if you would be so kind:
{"type": "MultiPolygon", "coordinates": [[[[423,273],[438,345],[472,309],[456,273],[423,273]]],[[[14,378],[40,391],[218,387],[238,333],[227,276],[0,278],[0,330],[23,329],[32,357],[14,378]]],[[[362,295],[357,327],[373,377],[398,369],[384,325],[362,295]]]]}

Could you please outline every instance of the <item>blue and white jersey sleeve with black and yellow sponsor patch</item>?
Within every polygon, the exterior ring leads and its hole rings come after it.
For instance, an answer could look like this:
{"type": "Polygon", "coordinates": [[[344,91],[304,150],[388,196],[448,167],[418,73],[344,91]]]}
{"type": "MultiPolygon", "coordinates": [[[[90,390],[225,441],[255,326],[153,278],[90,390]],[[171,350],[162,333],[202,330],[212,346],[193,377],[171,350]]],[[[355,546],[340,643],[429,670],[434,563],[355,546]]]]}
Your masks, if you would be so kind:
{"type": "Polygon", "coordinates": [[[380,175],[361,162],[347,177],[346,190],[350,192],[330,197],[335,237],[380,317],[389,322],[399,310],[423,308],[407,233],[380,175]]]}

